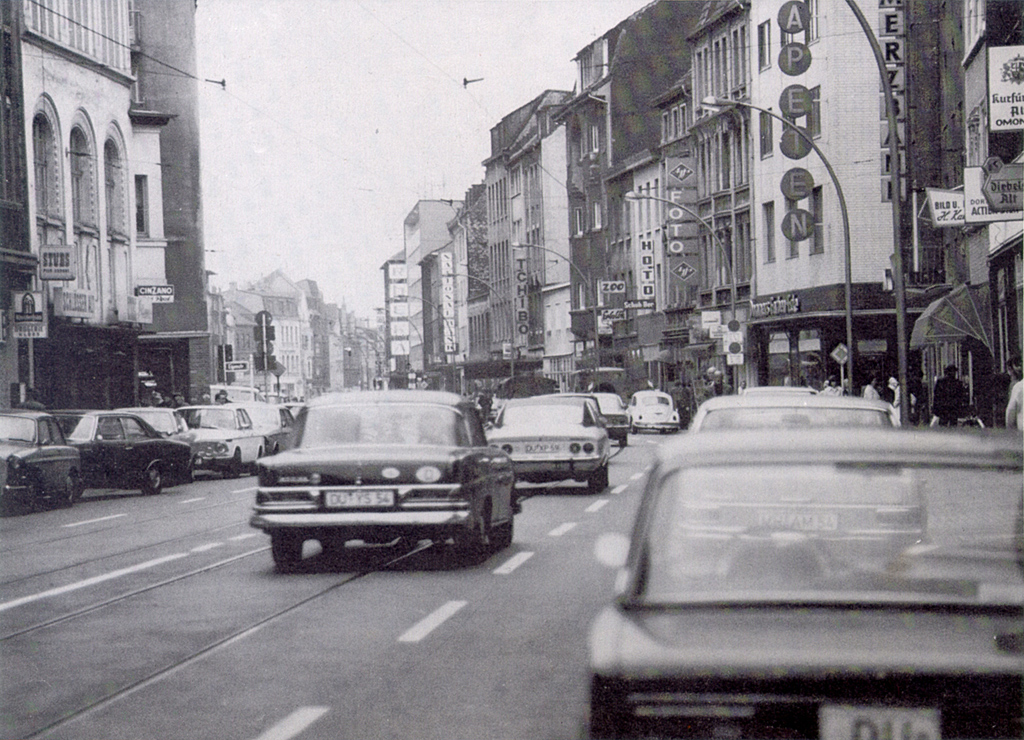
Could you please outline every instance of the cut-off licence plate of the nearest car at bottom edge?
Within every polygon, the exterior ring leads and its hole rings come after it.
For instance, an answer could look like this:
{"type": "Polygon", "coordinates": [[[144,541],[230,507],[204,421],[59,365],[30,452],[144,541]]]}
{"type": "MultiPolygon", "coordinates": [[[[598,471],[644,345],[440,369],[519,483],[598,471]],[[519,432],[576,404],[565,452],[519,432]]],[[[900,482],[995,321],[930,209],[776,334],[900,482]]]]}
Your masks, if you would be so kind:
{"type": "Polygon", "coordinates": [[[821,740],[939,740],[939,711],[889,706],[822,706],[818,709],[818,737],[821,740]]]}

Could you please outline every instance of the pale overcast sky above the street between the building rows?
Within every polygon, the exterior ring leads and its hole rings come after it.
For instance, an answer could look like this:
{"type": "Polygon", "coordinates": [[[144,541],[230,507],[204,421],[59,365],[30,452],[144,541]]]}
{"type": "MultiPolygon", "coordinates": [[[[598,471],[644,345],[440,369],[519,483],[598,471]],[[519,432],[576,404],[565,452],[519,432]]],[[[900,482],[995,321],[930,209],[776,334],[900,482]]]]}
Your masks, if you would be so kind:
{"type": "Polygon", "coordinates": [[[545,90],[571,90],[575,54],[647,4],[201,0],[211,284],[280,268],[372,318],[416,203],[482,182],[490,129],[545,90]]]}

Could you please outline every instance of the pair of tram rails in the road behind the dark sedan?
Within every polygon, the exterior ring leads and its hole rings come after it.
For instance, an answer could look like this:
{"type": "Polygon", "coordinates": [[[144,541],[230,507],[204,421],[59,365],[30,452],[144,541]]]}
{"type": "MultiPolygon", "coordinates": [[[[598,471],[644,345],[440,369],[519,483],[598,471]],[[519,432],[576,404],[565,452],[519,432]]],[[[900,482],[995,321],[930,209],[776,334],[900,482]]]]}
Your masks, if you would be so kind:
{"type": "MultiPolygon", "coordinates": [[[[218,652],[220,650],[223,650],[223,649],[229,647],[231,644],[233,644],[233,643],[236,643],[236,642],[238,642],[240,640],[245,639],[246,637],[248,637],[248,636],[250,636],[250,635],[258,632],[259,629],[263,628],[264,626],[266,626],[266,625],[268,625],[268,624],[270,624],[270,623],[272,623],[272,622],[281,619],[282,617],[284,617],[284,616],[286,616],[288,614],[291,614],[292,612],[295,612],[295,611],[303,608],[304,606],[306,606],[306,605],[308,605],[308,604],[316,601],[317,599],[321,599],[321,598],[327,596],[328,594],[331,594],[331,593],[337,591],[338,589],[340,589],[340,587],[342,587],[342,586],[344,586],[344,585],[346,585],[348,583],[351,583],[351,582],[353,582],[355,580],[365,578],[368,575],[372,575],[374,573],[385,571],[385,570],[393,567],[394,565],[400,563],[401,561],[403,561],[403,560],[406,560],[408,558],[412,558],[413,556],[418,555],[419,553],[422,553],[422,552],[424,552],[426,550],[429,550],[430,548],[433,548],[433,547],[435,547],[433,543],[423,543],[423,542],[421,542],[416,548],[414,548],[414,549],[412,549],[410,551],[407,551],[407,552],[402,552],[401,554],[396,555],[396,556],[394,556],[392,558],[389,558],[389,559],[385,560],[384,562],[380,563],[379,565],[376,565],[375,567],[365,568],[365,569],[358,570],[358,571],[353,572],[353,573],[346,573],[344,576],[339,577],[337,580],[335,580],[335,581],[333,581],[333,582],[325,585],[322,589],[318,589],[317,591],[315,591],[312,594],[304,596],[301,599],[298,599],[298,600],[290,603],[288,606],[281,607],[281,608],[276,609],[275,611],[273,611],[270,614],[262,616],[262,617],[260,617],[260,618],[258,618],[256,620],[253,620],[253,621],[249,622],[248,624],[246,624],[244,626],[238,627],[238,628],[233,629],[230,634],[228,634],[226,636],[223,636],[223,637],[220,637],[220,638],[218,638],[218,639],[216,639],[216,640],[214,640],[214,641],[212,641],[212,642],[204,645],[203,647],[201,647],[199,649],[193,650],[187,655],[179,657],[179,658],[171,661],[170,663],[167,663],[167,664],[165,664],[165,665],[163,665],[163,666],[161,666],[161,667],[159,667],[159,668],[157,668],[155,670],[151,670],[145,676],[143,676],[143,677],[141,677],[141,678],[139,678],[139,679],[137,679],[135,681],[132,681],[131,683],[129,683],[127,685],[124,685],[124,686],[122,686],[122,687],[120,687],[120,688],[118,688],[118,689],[116,689],[114,691],[108,692],[104,696],[101,696],[101,697],[99,697],[99,698],[97,698],[97,699],[95,699],[93,701],[90,701],[89,703],[87,703],[87,704],[85,704],[83,706],[80,706],[78,708],[75,708],[75,709],[72,709],[70,711],[67,711],[66,713],[63,713],[62,715],[60,715],[56,720],[53,720],[53,721],[49,722],[45,726],[43,726],[41,728],[38,728],[38,729],[35,729],[35,730],[32,730],[30,734],[24,735],[23,738],[24,738],[24,740],[30,740],[30,739],[33,739],[33,738],[44,738],[49,733],[51,733],[51,732],[53,732],[55,730],[58,730],[58,729],[60,729],[62,727],[71,725],[74,722],[76,722],[76,721],[78,721],[78,720],[80,720],[82,717],[85,717],[88,714],[91,714],[93,712],[99,711],[99,710],[103,709],[104,707],[110,706],[111,704],[114,704],[114,703],[116,703],[116,702],[118,702],[120,700],[123,700],[123,699],[131,696],[132,694],[134,694],[134,693],[136,693],[136,692],[138,692],[138,691],[140,691],[142,689],[145,689],[148,686],[152,686],[152,685],[154,685],[154,684],[156,684],[156,683],[158,683],[158,682],[160,682],[160,681],[162,681],[162,680],[164,680],[166,678],[169,678],[170,676],[176,673],[177,671],[179,671],[179,670],[181,670],[183,668],[188,667],[193,663],[196,663],[199,660],[202,660],[203,658],[206,658],[206,657],[208,657],[210,655],[213,655],[214,653],[216,653],[216,652],[218,652]]],[[[189,577],[195,577],[197,575],[202,575],[204,573],[208,573],[208,572],[210,572],[212,570],[216,570],[217,568],[220,568],[220,567],[223,567],[223,566],[236,563],[236,562],[238,562],[238,561],[240,561],[240,560],[242,560],[244,558],[248,558],[250,556],[257,555],[259,553],[265,553],[267,550],[269,550],[269,548],[258,548],[256,550],[248,551],[246,553],[242,553],[242,554],[239,554],[237,556],[232,556],[231,558],[228,558],[228,559],[226,559],[224,561],[220,561],[218,563],[207,565],[207,566],[204,566],[202,568],[197,568],[197,569],[191,570],[191,571],[189,571],[187,573],[181,573],[181,574],[176,575],[176,576],[174,576],[172,578],[167,578],[165,580],[162,580],[162,581],[160,581],[158,583],[151,583],[151,584],[148,584],[146,586],[142,586],[142,587],[136,589],[136,590],[134,590],[132,592],[129,592],[129,593],[126,593],[126,594],[122,594],[122,595],[120,595],[118,597],[114,597],[112,599],[108,599],[108,600],[104,600],[102,602],[98,602],[96,604],[92,604],[92,605],[89,605],[87,607],[83,607],[82,609],[79,609],[79,610],[77,610],[75,612],[72,612],[72,613],[69,613],[69,614],[65,614],[65,615],[61,615],[59,617],[54,617],[53,619],[49,619],[49,620],[47,620],[45,622],[40,622],[38,624],[32,625],[32,626],[29,626],[29,627],[25,627],[23,629],[17,630],[16,633],[11,633],[10,635],[2,636],[2,637],[0,637],[0,643],[2,643],[4,641],[7,641],[7,640],[11,640],[11,639],[17,638],[17,637],[24,637],[26,635],[29,635],[29,634],[35,633],[35,632],[39,632],[39,630],[44,629],[46,627],[50,627],[50,626],[53,626],[53,625],[56,625],[56,624],[60,624],[60,623],[63,623],[63,622],[71,621],[71,620],[73,620],[75,618],[84,616],[86,614],[90,614],[90,613],[95,612],[95,611],[97,611],[99,609],[103,609],[105,607],[109,607],[109,606],[111,606],[113,604],[117,604],[119,602],[124,602],[124,601],[129,600],[131,598],[138,597],[138,596],[140,596],[142,594],[155,591],[155,590],[160,589],[160,587],[171,585],[173,583],[179,582],[179,581],[184,580],[184,579],[189,578],[189,577]]]]}

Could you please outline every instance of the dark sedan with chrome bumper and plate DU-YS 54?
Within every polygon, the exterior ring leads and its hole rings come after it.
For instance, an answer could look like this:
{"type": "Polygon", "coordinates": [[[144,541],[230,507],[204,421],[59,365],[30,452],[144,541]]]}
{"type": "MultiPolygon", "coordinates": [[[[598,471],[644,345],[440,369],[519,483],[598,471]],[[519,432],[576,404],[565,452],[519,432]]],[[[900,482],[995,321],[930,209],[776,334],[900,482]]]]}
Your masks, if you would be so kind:
{"type": "Polygon", "coordinates": [[[512,461],[487,444],[476,405],[439,391],[319,396],[299,417],[297,445],[259,462],[252,526],[291,570],[306,539],[453,540],[476,558],[512,542],[512,461]]]}

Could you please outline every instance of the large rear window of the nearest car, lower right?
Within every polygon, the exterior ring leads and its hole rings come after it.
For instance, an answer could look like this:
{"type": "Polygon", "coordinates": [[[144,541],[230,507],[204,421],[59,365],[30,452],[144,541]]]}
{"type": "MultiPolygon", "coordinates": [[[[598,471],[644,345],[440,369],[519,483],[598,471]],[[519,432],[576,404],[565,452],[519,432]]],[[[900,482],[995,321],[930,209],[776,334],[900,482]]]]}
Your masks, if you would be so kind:
{"type": "Polygon", "coordinates": [[[955,465],[682,469],[648,491],[638,597],[1019,605],[1020,475],[955,465]]]}

